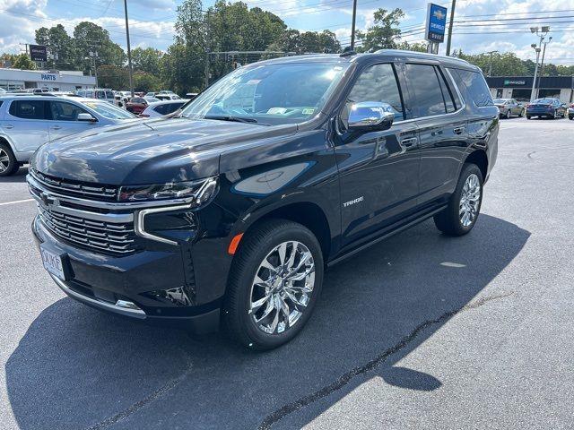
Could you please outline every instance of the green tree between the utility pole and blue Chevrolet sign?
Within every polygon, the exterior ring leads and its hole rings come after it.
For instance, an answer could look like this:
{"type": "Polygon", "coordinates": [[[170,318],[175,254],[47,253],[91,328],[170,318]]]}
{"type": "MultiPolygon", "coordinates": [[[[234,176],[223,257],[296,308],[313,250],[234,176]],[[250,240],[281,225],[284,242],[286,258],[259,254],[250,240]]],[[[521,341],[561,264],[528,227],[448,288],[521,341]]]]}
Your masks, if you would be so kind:
{"type": "Polygon", "coordinates": [[[398,40],[401,39],[401,30],[398,28],[404,12],[394,9],[378,9],[374,13],[374,23],[367,31],[357,31],[357,39],[362,41],[362,46],[357,50],[361,52],[376,51],[377,49],[395,49],[398,40]]]}

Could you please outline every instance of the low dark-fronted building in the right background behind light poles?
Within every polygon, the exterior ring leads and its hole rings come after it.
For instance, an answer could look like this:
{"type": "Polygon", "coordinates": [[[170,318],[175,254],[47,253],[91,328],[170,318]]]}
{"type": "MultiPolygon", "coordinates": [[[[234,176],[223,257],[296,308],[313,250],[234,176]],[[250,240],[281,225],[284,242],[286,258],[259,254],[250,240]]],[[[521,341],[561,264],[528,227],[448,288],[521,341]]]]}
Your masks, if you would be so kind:
{"type": "MultiPolygon", "coordinates": [[[[532,76],[493,76],[486,82],[491,89],[492,99],[517,99],[530,101],[532,76]]],[[[543,76],[536,78],[536,99],[551,97],[564,103],[574,101],[574,76],[543,76]]]]}

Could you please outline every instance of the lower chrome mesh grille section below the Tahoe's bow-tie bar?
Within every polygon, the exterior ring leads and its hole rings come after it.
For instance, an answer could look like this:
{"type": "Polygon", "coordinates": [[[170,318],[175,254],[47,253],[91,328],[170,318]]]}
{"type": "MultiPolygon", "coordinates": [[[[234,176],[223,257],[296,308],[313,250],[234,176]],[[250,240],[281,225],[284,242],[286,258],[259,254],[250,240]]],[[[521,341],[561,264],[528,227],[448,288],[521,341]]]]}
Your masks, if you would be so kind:
{"type": "Polygon", "coordinates": [[[55,235],[99,252],[132,254],[137,250],[134,224],[103,222],[51,211],[39,205],[39,217],[55,235]]]}

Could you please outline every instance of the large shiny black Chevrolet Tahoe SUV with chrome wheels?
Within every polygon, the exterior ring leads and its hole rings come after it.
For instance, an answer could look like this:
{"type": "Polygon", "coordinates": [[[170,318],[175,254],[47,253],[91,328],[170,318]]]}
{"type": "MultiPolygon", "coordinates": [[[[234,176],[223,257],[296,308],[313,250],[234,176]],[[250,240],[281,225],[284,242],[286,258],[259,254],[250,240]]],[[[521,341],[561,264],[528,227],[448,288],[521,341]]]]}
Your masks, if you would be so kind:
{"type": "Polygon", "coordinates": [[[332,264],[431,217],[468,233],[498,131],[482,73],[456,58],[249,64],[170,119],[42,146],[32,229],[86,305],[196,332],[224,323],[274,348],[307,323],[332,264]]]}

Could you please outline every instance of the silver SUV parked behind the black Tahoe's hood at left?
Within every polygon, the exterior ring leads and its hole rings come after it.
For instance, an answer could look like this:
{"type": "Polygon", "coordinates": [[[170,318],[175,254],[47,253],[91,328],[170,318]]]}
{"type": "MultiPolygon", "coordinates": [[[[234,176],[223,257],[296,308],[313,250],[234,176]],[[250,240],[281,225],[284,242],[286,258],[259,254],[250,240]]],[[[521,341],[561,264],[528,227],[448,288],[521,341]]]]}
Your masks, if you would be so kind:
{"type": "Polygon", "coordinates": [[[139,121],[98,99],[53,95],[0,96],[0,176],[12,175],[40,145],[92,127],[139,121]]]}

